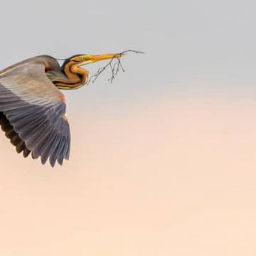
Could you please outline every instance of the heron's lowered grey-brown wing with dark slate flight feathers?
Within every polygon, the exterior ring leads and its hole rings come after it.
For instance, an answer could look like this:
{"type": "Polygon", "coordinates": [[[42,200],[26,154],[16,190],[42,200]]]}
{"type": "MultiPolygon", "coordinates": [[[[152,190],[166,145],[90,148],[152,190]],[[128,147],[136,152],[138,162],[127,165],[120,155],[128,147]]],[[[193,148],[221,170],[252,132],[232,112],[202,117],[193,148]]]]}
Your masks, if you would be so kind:
{"type": "Polygon", "coordinates": [[[34,159],[41,156],[43,164],[50,159],[51,166],[69,158],[65,107],[65,97],[47,78],[43,63],[22,63],[0,74],[2,122],[9,122],[21,147],[17,151],[24,155],[31,151],[34,159]]]}

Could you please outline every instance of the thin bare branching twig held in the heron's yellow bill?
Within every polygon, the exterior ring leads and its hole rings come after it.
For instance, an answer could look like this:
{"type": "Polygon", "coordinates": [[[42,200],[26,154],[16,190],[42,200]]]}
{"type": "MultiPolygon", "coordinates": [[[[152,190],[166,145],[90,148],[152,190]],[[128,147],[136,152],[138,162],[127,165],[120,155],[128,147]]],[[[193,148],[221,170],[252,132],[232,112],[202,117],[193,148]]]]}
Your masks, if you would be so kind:
{"type": "Polygon", "coordinates": [[[113,58],[110,60],[109,63],[107,63],[107,65],[105,65],[102,68],[99,68],[97,70],[97,73],[95,73],[95,75],[92,75],[90,77],[90,79],[87,82],[87,85],[89,85],[91,82],[95,82],[97,80],[97,78],[100,76],[100,74],[102,72],[104,72],[104,70],[106,70],[107,68],[110,68],[111,70],[111,77],[108,79],[110,82],[113,82],[114,78],[116,78],[117,73],[119,73],[120,70],[122,70],[122,72],[125,72],[124,70],[124,66],[121,63],[121,58],[122,58],[122,54],[124,53],[143,53],[141,51],[138,50],[124,50],[122,53],[117,53],[117,55],[114,55],[113,58]],[[114,60],[117,60],[117,62],[114,63],[114,60]]]}

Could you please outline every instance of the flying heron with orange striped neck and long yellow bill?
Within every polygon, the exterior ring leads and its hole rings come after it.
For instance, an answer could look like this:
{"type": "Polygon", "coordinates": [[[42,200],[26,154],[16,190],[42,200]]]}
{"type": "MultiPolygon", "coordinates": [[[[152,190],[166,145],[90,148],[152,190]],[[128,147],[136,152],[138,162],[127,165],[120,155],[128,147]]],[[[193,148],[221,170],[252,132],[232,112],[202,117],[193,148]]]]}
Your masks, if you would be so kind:
{"type": "Polygon", "coordinates": [[[50,55],[28,58],[0,71],[0,125],[17,153],[62,165],[70,156],[70,125],[65,95],[86,85],[84,65],[122,57],[122,53],[78,54],[62,65],[50,55]]]}

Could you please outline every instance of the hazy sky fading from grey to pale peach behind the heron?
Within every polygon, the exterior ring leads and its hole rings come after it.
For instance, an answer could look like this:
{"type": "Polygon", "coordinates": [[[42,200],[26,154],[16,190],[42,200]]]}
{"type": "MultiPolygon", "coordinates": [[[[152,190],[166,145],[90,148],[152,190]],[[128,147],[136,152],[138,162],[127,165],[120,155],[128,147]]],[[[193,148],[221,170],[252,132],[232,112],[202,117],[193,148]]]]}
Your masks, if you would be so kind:
{"type": "MultiPolygon", "coordinates": [[[[0,255],[255,255],[255,1],[5,1],[0,68],[128,55],[65,92],[70,161],[0,134],[0,255]]],[[[103,63],[90,67],[93,73],[103,63]]]]}

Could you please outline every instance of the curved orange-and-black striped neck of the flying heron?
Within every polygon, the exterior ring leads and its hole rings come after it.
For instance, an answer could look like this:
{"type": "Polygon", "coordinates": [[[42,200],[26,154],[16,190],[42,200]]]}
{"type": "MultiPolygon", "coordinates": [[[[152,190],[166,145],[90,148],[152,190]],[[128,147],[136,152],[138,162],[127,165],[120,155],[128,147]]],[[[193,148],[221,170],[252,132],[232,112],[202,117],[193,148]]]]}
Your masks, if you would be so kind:
{"type": "Polygon", "coordinates": [[[66,63],[61,70],[65,77],[54,82],[59,89],[75,90],[85,85],[88,80],[88,71],[73,62],[66,63]]]}

